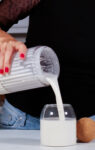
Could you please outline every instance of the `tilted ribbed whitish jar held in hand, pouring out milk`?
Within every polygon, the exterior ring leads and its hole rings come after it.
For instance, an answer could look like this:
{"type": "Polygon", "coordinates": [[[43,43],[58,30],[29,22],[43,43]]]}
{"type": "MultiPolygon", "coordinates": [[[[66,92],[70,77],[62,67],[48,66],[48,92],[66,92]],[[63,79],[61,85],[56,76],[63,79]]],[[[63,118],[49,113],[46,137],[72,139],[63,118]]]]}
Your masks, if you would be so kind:
{"type": "Polygon", "coordinates": [[[48,86],[45,74],[59,76],[59,61],[55,52],[47,46],[28,49],[26,59],[20,60],[18,53],[8,76],[0,76],[0,94],[48,86]]]}

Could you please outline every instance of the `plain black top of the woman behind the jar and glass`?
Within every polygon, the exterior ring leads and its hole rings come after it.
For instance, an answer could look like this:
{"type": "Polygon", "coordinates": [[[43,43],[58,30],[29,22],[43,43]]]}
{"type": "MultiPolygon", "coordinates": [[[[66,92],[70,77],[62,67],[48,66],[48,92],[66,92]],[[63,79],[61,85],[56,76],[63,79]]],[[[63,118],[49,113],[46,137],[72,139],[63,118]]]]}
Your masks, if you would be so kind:
{"type": "MultiPolygon", "coordinates": [[[[91,1],[43,0],[31,11],[27,47],[47,45],[58,55],[59,84],[64,103],[77,118],[95,114],[95,5],[91,1]]],[[[55,103],[50,87],[7,95],[16,107],[40,115],[55,103]]]]}

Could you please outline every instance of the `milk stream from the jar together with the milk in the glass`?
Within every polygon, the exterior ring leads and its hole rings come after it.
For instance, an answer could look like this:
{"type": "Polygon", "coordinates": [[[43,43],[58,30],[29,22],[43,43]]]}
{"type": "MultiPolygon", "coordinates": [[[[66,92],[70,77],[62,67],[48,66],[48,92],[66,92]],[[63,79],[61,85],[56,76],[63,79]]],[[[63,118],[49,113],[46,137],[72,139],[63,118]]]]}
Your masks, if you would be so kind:
{"type": "Polygon", "coordinates": [[[46,80],[55,93],[59,118],[40,120],[41,144],[46,146],[74,145],[76,143],[76,119],[65,118],[57,76],[47,75],[46,80]]]}

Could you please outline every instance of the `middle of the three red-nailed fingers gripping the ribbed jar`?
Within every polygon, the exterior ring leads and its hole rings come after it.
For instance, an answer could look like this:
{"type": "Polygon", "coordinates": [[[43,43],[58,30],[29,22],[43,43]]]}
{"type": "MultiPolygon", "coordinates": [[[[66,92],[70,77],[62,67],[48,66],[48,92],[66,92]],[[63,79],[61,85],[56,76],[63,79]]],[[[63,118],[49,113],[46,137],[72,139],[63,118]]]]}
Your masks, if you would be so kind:
{"type": "Polygon", "coordinates": [[[4,59],[4,72],[5,72],[5,74],[10,72],[14,52],[15,51],[14,51],[14,48],[12,47],[12,45],[8,44],[7,48],[6,48],[5,59],[4,59]]]}

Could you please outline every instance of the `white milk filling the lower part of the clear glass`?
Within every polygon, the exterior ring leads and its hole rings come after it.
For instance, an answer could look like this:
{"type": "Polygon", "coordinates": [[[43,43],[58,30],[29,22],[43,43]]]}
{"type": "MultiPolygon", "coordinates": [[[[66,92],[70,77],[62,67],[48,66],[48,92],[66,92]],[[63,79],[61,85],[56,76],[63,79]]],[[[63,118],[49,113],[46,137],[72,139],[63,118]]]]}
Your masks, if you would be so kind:
{"type": "Polygon", "coordinates": [[[41,144],[46,146],[69,146],[76,144],[76,119],[41,119],[41,144]]]}

